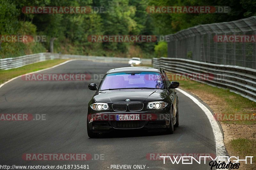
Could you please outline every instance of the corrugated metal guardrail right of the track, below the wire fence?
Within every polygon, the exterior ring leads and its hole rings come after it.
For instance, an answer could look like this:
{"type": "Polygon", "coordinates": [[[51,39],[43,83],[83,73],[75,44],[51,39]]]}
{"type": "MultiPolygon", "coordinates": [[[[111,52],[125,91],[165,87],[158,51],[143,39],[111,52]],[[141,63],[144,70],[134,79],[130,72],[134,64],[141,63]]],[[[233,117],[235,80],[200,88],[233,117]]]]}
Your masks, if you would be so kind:
{"type": "Polygon", "coordinates": [[[153,65],[181,74],[209,74],[198,82],[229,89],[256,102],[256,70],[240,66],[212,64],[181,58],[154,58],[153,65]]]}

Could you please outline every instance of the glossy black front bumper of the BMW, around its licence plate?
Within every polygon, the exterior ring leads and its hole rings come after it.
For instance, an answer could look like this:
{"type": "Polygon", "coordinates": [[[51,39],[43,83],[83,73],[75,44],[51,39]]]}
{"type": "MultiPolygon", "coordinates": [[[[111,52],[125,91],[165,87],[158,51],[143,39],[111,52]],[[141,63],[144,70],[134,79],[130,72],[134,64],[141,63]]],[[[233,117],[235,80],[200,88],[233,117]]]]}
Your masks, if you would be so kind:
{"type": "Polygon", "coordinates": [[[168,109],[154,110],[151,112],[89,113],[87,115],[87,123],[89,123],[89,128],[95,133],[106,133],[115,129],[145,129],[147,131],[163,131],[169,128],[169,120],[170,112],[168,109]],[[140,120],[116,121],[116,115],[140,115],[140,120]]]}

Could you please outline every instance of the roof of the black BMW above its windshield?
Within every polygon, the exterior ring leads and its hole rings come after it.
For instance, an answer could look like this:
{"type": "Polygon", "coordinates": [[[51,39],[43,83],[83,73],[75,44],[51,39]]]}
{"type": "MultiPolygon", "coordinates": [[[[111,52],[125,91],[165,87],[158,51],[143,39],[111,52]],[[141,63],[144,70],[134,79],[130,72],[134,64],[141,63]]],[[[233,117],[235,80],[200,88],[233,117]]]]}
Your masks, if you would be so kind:
{"type": "Polygon", "coordinates": [[[111,69],[108,73],[116,73],[116,72],[126,72],[126,71],[153,71],[153,72],[161,72],[161,68],[159,67],[121,67],[111,69]]]}

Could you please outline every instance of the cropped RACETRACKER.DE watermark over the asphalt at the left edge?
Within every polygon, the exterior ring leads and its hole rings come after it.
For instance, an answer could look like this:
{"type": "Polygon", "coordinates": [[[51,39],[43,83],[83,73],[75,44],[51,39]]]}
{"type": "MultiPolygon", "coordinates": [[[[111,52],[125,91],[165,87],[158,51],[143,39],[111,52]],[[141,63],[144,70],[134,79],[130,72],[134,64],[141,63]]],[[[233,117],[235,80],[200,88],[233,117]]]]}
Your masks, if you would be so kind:
{"type": "Polygon", "coordinates": [[[0,121],[45,121],[46,114],[31,114],[31,113],[2,113],[0,121]]]}

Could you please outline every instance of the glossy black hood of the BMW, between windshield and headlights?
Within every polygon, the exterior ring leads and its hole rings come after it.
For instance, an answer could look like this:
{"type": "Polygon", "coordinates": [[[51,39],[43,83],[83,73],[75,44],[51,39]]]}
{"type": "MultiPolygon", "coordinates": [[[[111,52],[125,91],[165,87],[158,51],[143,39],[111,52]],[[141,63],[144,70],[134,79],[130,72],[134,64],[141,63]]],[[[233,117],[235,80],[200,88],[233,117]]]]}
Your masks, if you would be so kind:
{"type": "Polygon", "coordinates": [[[107,90],[94,94],[96,102],[105,103],[127,103],[130,102],[149,102],[162,100],[167,95],[166,90],[156,89],[123,89],[123,90],[107,90]]]}

